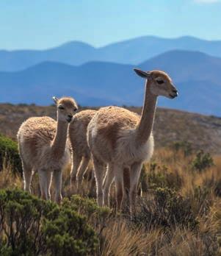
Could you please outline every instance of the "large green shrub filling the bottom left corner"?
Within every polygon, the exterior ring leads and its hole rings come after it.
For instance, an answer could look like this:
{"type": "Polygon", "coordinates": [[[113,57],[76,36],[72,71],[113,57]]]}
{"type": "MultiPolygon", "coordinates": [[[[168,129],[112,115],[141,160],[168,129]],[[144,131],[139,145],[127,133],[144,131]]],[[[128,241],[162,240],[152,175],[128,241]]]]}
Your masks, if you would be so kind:
{"type": "Polygon", "coordinates": [[[0,191],[0,255],[95,255],[97,245],[71,202],[58,207],[17,189],[0,191]]]}

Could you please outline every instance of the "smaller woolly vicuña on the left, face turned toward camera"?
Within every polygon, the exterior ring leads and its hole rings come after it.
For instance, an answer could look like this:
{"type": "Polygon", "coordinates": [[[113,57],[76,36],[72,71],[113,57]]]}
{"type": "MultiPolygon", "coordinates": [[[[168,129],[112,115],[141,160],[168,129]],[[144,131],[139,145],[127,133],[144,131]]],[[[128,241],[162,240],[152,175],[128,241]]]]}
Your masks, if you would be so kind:
{"type": "Polygon", "coordinates": [[[57,99],[57,121],[43,116],[29,118],[18,130],[18,149],[23,165],[24,190],[30,192],[33,171],[38,171],[41,197],[50,199],[51,174],[55,181],[55,201],[61,202],[62,168],[70,163],[68,124],[76,113],[74,99],[57,99]]]}

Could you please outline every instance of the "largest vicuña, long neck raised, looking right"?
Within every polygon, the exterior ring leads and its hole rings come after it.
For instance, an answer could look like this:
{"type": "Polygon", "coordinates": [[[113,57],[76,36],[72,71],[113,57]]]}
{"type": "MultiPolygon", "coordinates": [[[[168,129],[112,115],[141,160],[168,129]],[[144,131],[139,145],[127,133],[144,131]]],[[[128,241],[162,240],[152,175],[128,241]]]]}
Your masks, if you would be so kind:
{"type": "Polygon", "coordinates": [[[163,71],[134,71],[146,79],[141,118],[122,107],[103,107],[94,115],[87,129],[95,167],[98,205],[109,205],[109,189],[115,178],[117,210],[121,210],[123,170],[129,169],[131,213],[134,212],[142,163],[150,160],[153,154],[152,129],[157,96],[173,99],[178,95],[172,80],[163,71]],[[103,182],[106,164],[108,168],[103,182]]]}

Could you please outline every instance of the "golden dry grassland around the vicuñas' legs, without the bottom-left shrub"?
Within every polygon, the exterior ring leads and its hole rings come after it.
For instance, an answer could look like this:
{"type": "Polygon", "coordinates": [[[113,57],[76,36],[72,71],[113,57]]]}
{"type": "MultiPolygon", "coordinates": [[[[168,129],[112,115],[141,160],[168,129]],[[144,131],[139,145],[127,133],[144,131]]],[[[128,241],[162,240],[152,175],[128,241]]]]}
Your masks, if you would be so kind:
{"type": "MultiPolygon", "coordinates": [[[[122,214],[116,216],[113,210],[101,223],[90,219],[99,236],[98,255],[221,255],[221,160],[214,156],[211,163],[205,157],[184,154],[182,148],[157,149],[142,169],[142,196],[133,221],[126,206],[122,214]]],[[[70,189],[69,174],[70,168],[63,173],[62,188],[68,197],[77,193],[70,189]]],[[[90,185],[89,171],[82,196],[95,197],[95,185],[92,191],[90,185]]],[[[8,166],[0,172],[0,189],[15,187],[22,188],[23,182],[8,166]]],[[[52,197],[53,191],[52,185],[52,197]]],[[[37,174],[32,193],[39,195],[37,174]]],[[[114,185],[111,204],[115,208],[114,185]]]]}

